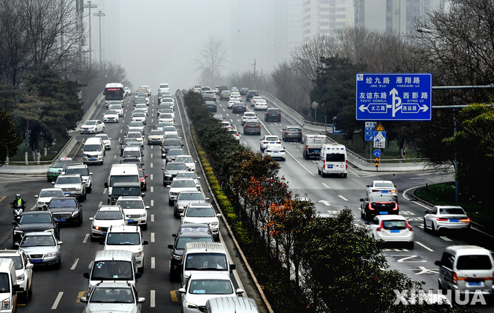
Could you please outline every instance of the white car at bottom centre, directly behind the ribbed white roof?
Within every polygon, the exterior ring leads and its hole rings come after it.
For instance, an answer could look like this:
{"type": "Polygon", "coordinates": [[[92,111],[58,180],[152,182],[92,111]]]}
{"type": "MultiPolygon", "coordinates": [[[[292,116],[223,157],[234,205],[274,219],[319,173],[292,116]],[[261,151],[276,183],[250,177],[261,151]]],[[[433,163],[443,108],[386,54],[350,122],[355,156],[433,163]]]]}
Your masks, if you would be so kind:
{"type": "Polygon", "coordinates": [[[235,287],[228,275],[215,273],[194,273],[187,284],[178,289],[182,295],[182,312],[198,313],[206,301],[216,297],[237,297],[244,290],[235,287]]]}

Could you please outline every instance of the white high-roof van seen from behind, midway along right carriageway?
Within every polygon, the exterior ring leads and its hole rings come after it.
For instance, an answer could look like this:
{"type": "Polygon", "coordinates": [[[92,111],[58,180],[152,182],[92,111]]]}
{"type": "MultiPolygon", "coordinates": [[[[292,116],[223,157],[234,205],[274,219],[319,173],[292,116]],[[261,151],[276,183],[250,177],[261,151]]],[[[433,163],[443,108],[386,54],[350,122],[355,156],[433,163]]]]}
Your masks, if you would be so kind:
{"type": "Polygon", "coordinates": [[[326,175],[339,174],[346,177],[348,171],[348,160],[346,158],[346,148],[344,145],[333,143],[332,145],[322,145],[319,154],[318,174],[326,175]]]}

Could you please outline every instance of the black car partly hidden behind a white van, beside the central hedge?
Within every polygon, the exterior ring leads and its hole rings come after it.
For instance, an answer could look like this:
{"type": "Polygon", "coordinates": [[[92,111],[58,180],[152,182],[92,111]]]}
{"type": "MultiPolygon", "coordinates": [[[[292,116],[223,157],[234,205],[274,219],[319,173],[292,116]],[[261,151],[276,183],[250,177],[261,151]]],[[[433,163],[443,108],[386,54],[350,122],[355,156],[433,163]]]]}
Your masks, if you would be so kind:
{"type": "MultiPolygon", "coordinates": [[[[187,224],[186,224],[187,225],[187,224]]],[[[172,234],[175,237],[173,245],[168,245],[170,249],[170,279],[178,278],[180,265],[182,264],[183,251],[187,242],[214,242],[209,227],[205,225],[207,231],[180,231],[172,234]]],[[[202,227],[204,229],[204,227],[202,227]]]]}

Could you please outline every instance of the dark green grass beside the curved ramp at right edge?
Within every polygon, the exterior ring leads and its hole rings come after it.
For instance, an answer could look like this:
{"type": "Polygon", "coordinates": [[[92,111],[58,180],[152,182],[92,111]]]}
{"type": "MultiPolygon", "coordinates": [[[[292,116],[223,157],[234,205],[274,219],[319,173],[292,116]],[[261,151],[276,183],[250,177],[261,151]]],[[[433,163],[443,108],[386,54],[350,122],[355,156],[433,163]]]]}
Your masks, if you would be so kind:
{"type": "MultiPolygon", "coordinates": [[[[449,183],[421,187],[415,190],[414,195],[433,205],[455,205],[455,182],[451,181],[449,183]]],[[[492,225],[494,216],[487,202],[482,202],[480,199],[475,198],[469,188],[460,190],[459,204],[473,222],[481,225],[492,225]]],[[[484,229],[484,231],[494,234],[494,229],[484,229]]]]}

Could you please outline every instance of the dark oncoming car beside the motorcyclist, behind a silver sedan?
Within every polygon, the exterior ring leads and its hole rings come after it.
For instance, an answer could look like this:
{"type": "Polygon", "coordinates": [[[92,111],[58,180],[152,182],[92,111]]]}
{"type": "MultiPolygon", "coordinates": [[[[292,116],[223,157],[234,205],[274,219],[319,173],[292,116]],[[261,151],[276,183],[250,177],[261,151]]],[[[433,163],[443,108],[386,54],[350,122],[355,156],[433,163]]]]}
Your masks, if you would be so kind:
{"type": "Polygon", "coordinates": [[[15,225],[12,246],[16,249],[16,244],[19,245],[23,234],[28,231],[54,231],[56,238],[60,239],[60,227],[58,219],[56,219],[50,211],[27,211],[21,215],[19,221],[12,221],[15,225]]]}

